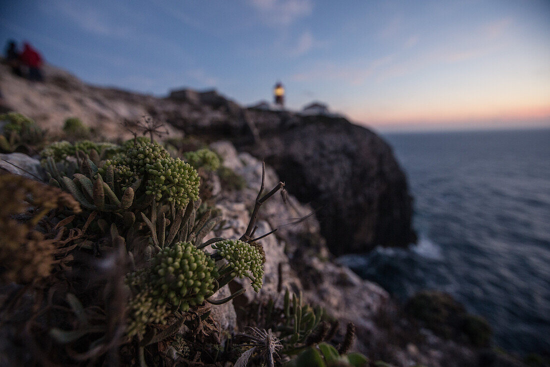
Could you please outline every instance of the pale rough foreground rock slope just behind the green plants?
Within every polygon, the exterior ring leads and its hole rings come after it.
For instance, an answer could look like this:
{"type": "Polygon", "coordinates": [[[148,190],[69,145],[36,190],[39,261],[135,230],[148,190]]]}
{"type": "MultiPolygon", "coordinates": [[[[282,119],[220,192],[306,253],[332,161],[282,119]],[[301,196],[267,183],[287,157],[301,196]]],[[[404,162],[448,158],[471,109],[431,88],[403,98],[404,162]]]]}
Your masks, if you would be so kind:
{"type": "MultiPolygon", "coordinates": [[[[262,163],[246,152],[238,153],[228,141],[210,144],[223,156],[223,166],[243,177],[244,187],[235,190],[221,182],[215,172],[201,171],[202,185],[208,187],[210,200],[225,221],[222,229],[208,235],[237,238],[244,233],[254,207],[257,188],[262,180],[262,163]]],[[[4,171],[27,175],[30,179],[44,177],[40,161],[21,153],[1,154],[0,175],[4,171]],[[16,167],[17,166],[17,167],[16,167]]],[[[279,181],[272,168],[266,169],[265,185],[273,187],[279,181]]],[[[379,285],[363,280],[349,268],[331,261],[324,239],[319,235],[320,225],[315,214],[299,223],[296,218],[311,213],[311,207],[300,204],[292,195],[270,198],[259,212],[256,235],[262,236],[273,228],[279,230],[261,240],[266,262],[263,265],[263,287],[259,293],[245,292],[223,305],[211,308],[213,320],[223,335],[234,335],[254,325],[257,315],[250,310],[274,300],[281,306],[285,290],[301,293],[311,305],[323,307],[328,320],[337,320],[335,339],[341,340],[345,325],[353,322],[356,330],[354,350],[374,360],[382,359],[397,366],[461,366],[476,365],[479,352],[464,342],[446,340],[430,330],[419,328],[414,321],[401,315],[400,307],[379,285]],[[293,223],[292,225],[289,225],[293,223]]],[[[210,249],[211,250],[211,249],[210,249]]],[[[223,287],[216,298],[224,298],[238,289],[250,288],[250,280],[235,279],[223,287]]],[[[0,303],[10,292],[0,287],[0,303]]],[[[26,311],[25,311],[26,312],[26,311]]],[[[25,313],[23,312],[23,313],[25,313]]],[[[30,312],[30,311],[29,311],[30,312]]],[[[25,315],[21,320],[26,320],[25,315]]],[[[17,321],[17,320],[16,320],[17,321]]],[[[14,320],[10,321],[14,323],[14,320]]],[[[17,322],[15,322],[17,325],[17,322]]],[[[18,365],[29,358],[29,351],[11,344],[17,340],[11,328],[0,332],[0,360],[18,365]]]]}

